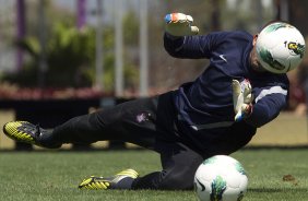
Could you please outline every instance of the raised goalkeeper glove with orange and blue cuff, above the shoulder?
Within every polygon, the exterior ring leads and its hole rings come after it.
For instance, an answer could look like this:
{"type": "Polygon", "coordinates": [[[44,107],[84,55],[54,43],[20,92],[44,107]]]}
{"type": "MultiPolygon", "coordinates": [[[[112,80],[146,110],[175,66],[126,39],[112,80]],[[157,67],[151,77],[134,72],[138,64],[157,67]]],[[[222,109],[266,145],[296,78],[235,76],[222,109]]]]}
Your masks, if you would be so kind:
{"type": "Polygon", "coordinates": [[[173,36],[197,35],[199,28],[191,26],[193,19],[182,13],[170,13],[165,16],[166,32],[173,36]]]}

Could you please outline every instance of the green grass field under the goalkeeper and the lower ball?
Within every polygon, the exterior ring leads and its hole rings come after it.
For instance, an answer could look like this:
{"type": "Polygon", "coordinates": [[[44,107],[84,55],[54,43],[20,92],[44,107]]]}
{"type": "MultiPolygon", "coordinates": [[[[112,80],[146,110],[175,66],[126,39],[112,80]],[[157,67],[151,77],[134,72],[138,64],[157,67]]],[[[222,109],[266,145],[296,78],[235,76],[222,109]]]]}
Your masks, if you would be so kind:
{"type": "MultiPolygon", "coordinates": [[[[308,150],[245,150],[233,156],[248,173],[246,201],[307,201],[308,150]],[[284,181],[284,176],[288,179],[284,181]]],[[[159,157],[150,151],[0,152],[1,200],[196,200],[193,191],[79,190],[90,175],[114,175],[132,167],[141,175],[158,170],[159,157]]]]}

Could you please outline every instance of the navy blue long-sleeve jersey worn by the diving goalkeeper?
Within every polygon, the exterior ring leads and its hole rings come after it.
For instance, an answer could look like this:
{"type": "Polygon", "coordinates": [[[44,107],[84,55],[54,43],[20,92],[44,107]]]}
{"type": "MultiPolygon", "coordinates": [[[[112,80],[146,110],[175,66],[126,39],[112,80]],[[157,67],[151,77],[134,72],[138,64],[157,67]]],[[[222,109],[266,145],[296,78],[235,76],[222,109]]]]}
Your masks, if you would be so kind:
{"type": "MultiPolygon", "coordinates": [[[[175,93],[179,118],[192,129],[228,127],[234,123],[232,80],[248,79],[252,86],[253,110],[245,121],[261,127],[273,120],[286,106],[286,74],[256,72],[250,67],[252,35],[214,32],[203,36],[173,38],[165,34],[168,54],[183,59],[210,59],[210,66],[193,82],[182,84],[175,93]]],[[[189,68],[189,67],[188,67],[189,68]]]]}

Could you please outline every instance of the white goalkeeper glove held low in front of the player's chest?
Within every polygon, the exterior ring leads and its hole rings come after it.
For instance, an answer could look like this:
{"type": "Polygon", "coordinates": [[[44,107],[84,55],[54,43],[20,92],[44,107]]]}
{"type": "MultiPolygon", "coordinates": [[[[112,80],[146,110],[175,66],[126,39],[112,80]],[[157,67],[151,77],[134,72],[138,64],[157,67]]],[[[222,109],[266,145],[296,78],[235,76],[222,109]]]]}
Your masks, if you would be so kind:
{"type": "Polygon", "coordinates": [[[233,80],[233,104],[235,111],[235,121],[241,121],[247,118],[252,111],[252,94],[251,84],[248,80],[244,80],[239,83],[237,80],[233,80]]]}

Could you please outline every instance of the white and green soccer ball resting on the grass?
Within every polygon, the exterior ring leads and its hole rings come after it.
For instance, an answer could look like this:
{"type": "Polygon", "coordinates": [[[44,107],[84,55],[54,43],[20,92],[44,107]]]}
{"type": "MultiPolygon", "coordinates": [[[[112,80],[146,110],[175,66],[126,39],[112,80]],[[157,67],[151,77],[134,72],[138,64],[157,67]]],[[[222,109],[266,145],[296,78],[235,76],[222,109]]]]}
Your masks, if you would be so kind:
{"type": "Polygon", "coordinates": [[[247,185],[241,164],[226,155],[205,159],[194,175],[194,190],[200,201],[239,201],[247,185]]]}

